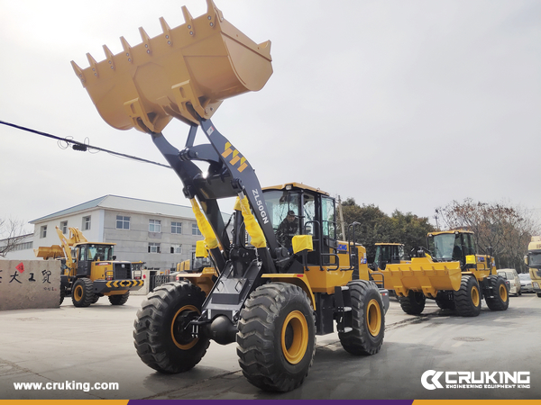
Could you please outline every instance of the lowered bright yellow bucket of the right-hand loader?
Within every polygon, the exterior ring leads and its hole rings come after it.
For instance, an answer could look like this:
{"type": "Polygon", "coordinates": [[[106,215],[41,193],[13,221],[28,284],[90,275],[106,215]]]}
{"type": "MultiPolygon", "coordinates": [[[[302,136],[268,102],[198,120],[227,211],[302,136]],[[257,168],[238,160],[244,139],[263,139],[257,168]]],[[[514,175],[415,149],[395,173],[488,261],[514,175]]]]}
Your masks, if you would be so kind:
{"type": "Polygon", "coordinates": [[[462,280],[460,262],[433,262],[429,257],[412,257],[410,264],[387,265],[381,273],[385,288],[405,297],[413,290],[436,298],[438,291],[458,291],[462,280]]]}

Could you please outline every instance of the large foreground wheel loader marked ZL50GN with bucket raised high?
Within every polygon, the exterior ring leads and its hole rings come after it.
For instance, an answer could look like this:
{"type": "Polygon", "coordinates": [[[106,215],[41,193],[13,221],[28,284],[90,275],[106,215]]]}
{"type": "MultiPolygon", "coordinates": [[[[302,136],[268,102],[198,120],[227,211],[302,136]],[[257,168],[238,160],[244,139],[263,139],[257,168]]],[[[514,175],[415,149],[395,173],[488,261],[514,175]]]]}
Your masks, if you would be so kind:
{"type": "Polygon", "coordinates": [[[104,46],[105,60],[88,55],[90,67],[73,67],[102,118],[146,133],[179,175],[218,274],[149,294],[134,322],[137,354],[160,373],[180,373],[211,340],[236,341],[250,383],[288,392],[308,374],[316,335],[336,329],[353,355],[378,353],[389,297],[361,269],[359,247],[336,239],[333,198],[296,183],[263,191],[250,162],[210,121],[225,98],[260,90],[272,67],[269,41],[253,42],[206,3],[197,18],[183,7],[177,28],[161,19],[157,37],[141,28],[142,43],[122,39],[123,52],[104,46]],[[172,118],[190,126],[184,148],[161,133],[172,118]],[[205,141],[196,143],[199,127],[205,141]],[[236,203],[228,227],[218,200],[229,197],[236,203]],[[277,232],[289,211],[297,229],[286,240],[277,232]]]}

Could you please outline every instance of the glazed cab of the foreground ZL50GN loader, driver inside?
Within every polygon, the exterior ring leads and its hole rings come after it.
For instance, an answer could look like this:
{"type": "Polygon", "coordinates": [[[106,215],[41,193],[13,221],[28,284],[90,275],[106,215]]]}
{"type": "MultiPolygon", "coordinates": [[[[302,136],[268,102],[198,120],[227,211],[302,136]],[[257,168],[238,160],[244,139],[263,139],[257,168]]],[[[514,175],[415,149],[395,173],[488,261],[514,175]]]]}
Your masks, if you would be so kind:
{"type": "Polygon", "coordinates": [[[312,266],[335,264],[335,199],[319,189],[299,183],[263,188],[278,242],[292,253],[295,235],[312,235],[314,251],[307,255],[312,266]],[[293,215],[291,215],[291,213],[293,215]]]}

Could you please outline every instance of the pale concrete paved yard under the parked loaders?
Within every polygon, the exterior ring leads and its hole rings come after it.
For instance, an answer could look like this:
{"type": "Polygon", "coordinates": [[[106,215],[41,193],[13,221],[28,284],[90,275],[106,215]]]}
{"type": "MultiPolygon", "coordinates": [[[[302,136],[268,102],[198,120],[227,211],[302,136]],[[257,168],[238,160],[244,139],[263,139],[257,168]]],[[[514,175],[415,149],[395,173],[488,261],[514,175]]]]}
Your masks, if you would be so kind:
{"type": "MultiPolygon", "coordinates": [[[[381,352],[346,353],[336,334],[317,338],[305,383],[293,392],[261,392],[244,379],[235,345],[211,343],[185,374],[158,374],[133,347],[133,320],[143,297],[114,307],[102,298],[78,309],[0,311],[0,400],[5,399],[541,399],[541,299],[511,297],[509,310],[460,318],[427,302],[408,316],[391,298],[381,352]],[[427,370],[530,373],[530,388],[436,389],[427,370]],[[119,383],[119,390],[15,391],[14,383],[119,383]]],[[[445,377],[441,383],[445,384],[445,377]]]]}

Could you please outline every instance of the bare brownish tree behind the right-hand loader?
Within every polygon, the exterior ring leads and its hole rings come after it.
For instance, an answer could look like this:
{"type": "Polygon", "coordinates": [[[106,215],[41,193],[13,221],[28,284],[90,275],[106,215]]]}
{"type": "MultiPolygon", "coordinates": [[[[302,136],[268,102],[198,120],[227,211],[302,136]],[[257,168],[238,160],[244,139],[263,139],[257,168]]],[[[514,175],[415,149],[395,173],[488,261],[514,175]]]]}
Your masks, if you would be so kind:
{"type": "Polygon", "coordinates": [[[539,231],[539,224],[527,210],[468,198],[438,208],[436,214],[447,229],[472,230],[480,253],[491,251],[497,267],[516,268],[519,272],[527,270],[522,258],[531,236],[539,231]]]}

